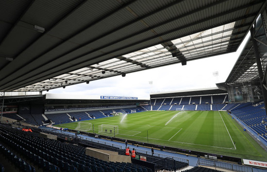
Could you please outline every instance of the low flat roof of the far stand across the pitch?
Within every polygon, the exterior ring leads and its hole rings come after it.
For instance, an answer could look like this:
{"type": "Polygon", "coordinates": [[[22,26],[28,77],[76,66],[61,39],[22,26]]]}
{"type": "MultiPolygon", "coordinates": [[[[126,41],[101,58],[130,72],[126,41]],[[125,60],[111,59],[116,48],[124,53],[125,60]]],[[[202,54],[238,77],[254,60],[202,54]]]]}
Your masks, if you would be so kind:
{"type": "Polygon", "coordinates": [[[150,98],[167,98],[167,97],[187,97],[213,94],[227,94],[226,90],[214,88],[190,89],[181,91],[168,91],[159,93],[150,93],[150,98]]]}

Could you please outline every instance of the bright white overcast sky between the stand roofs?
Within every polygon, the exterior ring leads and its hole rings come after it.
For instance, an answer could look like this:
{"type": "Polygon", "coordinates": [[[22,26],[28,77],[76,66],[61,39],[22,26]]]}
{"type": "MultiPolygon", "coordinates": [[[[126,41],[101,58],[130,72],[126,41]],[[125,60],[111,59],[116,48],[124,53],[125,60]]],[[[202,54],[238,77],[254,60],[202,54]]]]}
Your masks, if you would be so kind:
{"type": "MultiPolygon", "coordinates": [[[[248,34],[234,53],[187,61],[184,66],[178,63],[127,73],[125,77],[119,75],[90,81],[89,84],[66,86],[65,89],[51,89],[49,93],[149,99],[150,93],[216,87],[216,83],[225,82],[249,38],[248,34]],[[218,72],[218,76],[214,76],[213,72],[218,72]]],[[[43,92],[43,94],[45,93],[46,91],[43,92]]]]}

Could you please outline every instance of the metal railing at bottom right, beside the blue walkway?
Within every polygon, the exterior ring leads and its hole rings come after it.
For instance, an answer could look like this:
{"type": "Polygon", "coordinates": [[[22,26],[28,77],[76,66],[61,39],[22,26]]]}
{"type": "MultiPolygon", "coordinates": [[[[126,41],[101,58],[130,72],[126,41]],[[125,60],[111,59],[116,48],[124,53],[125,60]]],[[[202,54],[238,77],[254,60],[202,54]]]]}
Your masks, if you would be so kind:
{"type": "Polygon", "coordinates": [[[232,163],[227,163],[227,162],[222,162],[222,161],[210,160],[210,159],[199,158],[198,164],[204,165],[204,166],[215,167],[215,169],[221,168],[221,169],[226,169],[226,170],[232,170],[235,172],[253,172],[252,167],[232,164],[232,163]]]}

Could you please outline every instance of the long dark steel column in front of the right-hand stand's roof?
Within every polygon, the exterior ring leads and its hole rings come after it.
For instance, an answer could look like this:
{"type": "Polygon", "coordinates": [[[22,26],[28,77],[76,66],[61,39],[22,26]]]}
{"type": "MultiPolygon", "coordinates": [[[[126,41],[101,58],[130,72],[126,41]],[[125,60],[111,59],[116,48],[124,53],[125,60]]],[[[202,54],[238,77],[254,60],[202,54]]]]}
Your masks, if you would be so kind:
{"type": "Polygon", "coordinates": [[[264,74],[263,74],[263,68],[262,68],[262,63],[261,63],[261,57],[259,53],[259,47],[254,39],[254,33],[255,33],[255,28],[252,27],[250,29],[250,35],[251,35],[251,40],[254,48],[254,53],[256,57],[256,62],[257,62],[257,67],[258,67],[258,72],[259,72],[259,77],[260,77],[260,85],[263,93],[263,100],[264,100],[264,105],[265,105],[265,110],[266,110],[266,115],[267,115],[267,86],[266,86],[266,76],[264,79],[264,74]]]}

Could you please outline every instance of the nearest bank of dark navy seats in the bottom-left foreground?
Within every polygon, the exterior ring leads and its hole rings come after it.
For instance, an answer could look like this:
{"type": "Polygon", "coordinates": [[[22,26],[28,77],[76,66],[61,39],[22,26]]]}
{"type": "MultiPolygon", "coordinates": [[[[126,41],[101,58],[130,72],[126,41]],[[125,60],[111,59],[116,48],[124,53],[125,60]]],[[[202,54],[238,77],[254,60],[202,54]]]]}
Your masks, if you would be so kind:
{"type": "MultiPolygon", "coordinates": [[[[18,152],[26,155],[31,162],[44,171],[59,172],[60,169],[67,172],[127,172],[128,170],[137,172],[141,169],[140,172],[152,172],[149,168],[132,163],[107,162],[87,156],[83,146],[46,139],[36,133],[24,132],[2,124],[0,131],[2,142],[10,144],[18,152]]],[[[2,146],[0,149],[2,151],[2,146]]],[[[5,148],[3,150],[7,155],[11,155],[5,148]]],[[[17,162],[15,156],[9,157],[17,162]]]]}

